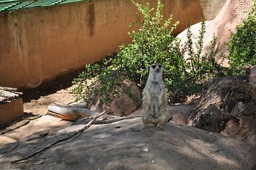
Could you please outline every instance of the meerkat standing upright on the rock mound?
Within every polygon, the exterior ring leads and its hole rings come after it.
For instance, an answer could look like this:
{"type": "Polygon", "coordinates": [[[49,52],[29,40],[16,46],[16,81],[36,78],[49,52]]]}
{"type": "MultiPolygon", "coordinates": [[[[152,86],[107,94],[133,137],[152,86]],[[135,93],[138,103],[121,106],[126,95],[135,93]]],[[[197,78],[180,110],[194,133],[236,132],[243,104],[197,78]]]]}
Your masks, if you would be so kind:
{"type": "Polygon", "coordinates": [[[167,94],[162,73],[163,66],[161,64],[153,63],[150,65],[149,77],[142,93],[144,127],[148,127],[151,123],[163,129],[163,125],[167,123],[167,94]]]}

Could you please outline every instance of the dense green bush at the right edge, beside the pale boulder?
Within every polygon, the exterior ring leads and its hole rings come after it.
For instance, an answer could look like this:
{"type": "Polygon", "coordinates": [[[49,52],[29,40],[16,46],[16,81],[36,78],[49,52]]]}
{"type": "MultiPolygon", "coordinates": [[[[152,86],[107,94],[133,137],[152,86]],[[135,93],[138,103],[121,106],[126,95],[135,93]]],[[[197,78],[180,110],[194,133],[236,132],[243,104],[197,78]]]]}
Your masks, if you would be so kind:
{"type": "Polygon", "coordinates": [[[244,67],[256,64],[256,1],[247,19],[237,26],[237,33],[231,33],[227,49],[231,74],[243,73],[244,67]]]}

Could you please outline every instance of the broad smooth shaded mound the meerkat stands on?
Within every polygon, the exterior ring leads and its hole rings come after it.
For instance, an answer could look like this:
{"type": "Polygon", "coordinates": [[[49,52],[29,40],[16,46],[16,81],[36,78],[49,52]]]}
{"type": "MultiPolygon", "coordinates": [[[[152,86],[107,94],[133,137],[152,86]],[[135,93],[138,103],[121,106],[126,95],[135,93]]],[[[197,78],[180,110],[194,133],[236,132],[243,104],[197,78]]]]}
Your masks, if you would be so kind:
{"type": "Polygon", "coordinates": [[[93,125],[23,163],[10,164],[85,123],[81,119],[37,142],[13,144],[16,148],[11,153],[0,154],[0,164],[21,169],[251,169],[256,161],[255,145],[175,123],[168,123],[164,130],[143,129],[141,119],[136,118],[93,125]]]}

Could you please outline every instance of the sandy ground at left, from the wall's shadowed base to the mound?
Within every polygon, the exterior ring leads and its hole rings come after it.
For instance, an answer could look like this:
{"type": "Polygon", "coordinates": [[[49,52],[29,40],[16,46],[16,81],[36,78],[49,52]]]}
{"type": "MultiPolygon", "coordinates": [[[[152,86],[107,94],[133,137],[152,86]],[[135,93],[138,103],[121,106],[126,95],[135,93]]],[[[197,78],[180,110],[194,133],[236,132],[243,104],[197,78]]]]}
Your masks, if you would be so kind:
{"type": "Polygon", "coordinates": [[[73,78],[77,74],[78,72],[73,72],[35,89],[25,91],[22,97],[25,117],[0,130],[0,146],[21,141],[35,133],[51,134],[70,125],[69,121],[62,121],[47,115],[47,107],[54,102],[69,104],[75,101],[75,96],[71,91],[73,78]]]}

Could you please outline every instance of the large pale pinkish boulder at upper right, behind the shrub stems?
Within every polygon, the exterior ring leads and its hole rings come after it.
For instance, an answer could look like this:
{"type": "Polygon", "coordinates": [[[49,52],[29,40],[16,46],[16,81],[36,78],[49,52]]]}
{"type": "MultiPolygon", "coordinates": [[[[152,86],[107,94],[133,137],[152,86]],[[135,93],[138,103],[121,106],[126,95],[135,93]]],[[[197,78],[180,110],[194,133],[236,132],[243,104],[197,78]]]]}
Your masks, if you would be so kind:
{"type": "MultiPolygon", "coordinates": [[[[248,11],[251,7],[253,0],[227,0],[225,5],[223,5],[219,14],[213,19],[213,21],[206,22],[206,33],[204,37],[204,47],[203,52],[209,51],[210,41],[212,40],[213,34],[218,38],[221,43],[219,46],[219,52],[217,53],[216,60],[221,60],[221,54],[227,55],[227,47],[225,43],[229,42],[231,32],[235,33],[235,28],[240,25],[243,20],[247,17],[248,11]]],[[[191,26],[191,32],[193,33],[194,42],[197,41],[199,37],[199,29],[201,27],[200,23],[196,23],[191,26]]],[[[187,41],[187,29],[177,35],[181,39],[181,45],[184,45],[187,41]]],[[[227,61],[224,63],[227,65],[227,61]]]]}

